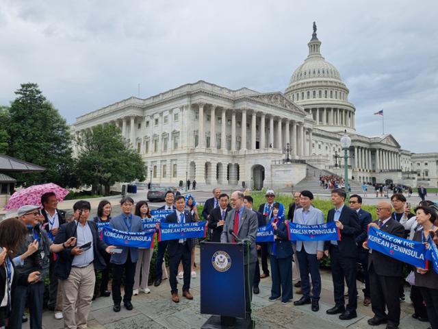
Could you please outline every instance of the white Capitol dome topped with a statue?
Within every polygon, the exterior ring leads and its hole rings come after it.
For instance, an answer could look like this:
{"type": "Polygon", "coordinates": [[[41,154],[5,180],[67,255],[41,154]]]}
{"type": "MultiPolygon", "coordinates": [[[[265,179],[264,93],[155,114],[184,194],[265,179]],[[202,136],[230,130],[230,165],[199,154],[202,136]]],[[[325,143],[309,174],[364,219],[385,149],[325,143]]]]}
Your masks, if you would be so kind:
{"type": "Polygon", "coordinates": [[[285,96],[312,114],[315,124],[331,132],[355,130],[355,106],[348,101],[349,90],[336,67],[320,53],[321,41],[313,23],[309,55],[298,66],[285,90],[285,96]]]}

